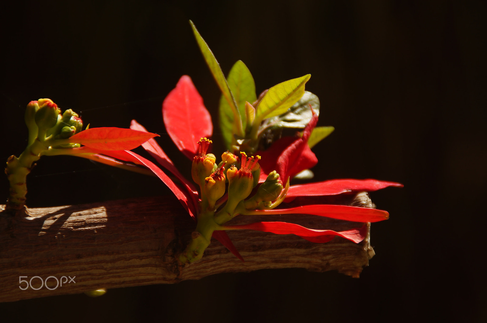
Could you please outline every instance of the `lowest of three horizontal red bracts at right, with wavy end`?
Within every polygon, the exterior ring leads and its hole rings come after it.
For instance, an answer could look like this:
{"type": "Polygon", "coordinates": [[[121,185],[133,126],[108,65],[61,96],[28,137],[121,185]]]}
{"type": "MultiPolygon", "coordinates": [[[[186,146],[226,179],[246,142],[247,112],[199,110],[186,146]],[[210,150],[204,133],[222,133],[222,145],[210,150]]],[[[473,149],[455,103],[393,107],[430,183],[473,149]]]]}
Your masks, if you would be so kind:
{"type": "Polygon", "coordinates": [[[367,226],[361,228],[336,232],[333,230],[315,230],[302,227],[298,224],[288,222],[255,222],[243,225],[230,225],[224,227],[227,230],[248,229],[263,232],[272,232],[276,234],[296,234],[301,238],[311,242],[323,243],[332,240],[336,235],[345,239],[359,243],[365,239],[367,226]]]}

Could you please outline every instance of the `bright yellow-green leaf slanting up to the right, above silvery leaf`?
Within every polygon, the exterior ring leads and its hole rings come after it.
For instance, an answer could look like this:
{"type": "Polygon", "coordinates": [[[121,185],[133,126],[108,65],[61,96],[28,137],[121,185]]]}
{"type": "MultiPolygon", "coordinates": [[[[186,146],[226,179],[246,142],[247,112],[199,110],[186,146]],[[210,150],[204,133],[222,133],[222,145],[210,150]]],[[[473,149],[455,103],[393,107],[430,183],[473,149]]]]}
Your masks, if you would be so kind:
{"type": "Polygon", "coordinates": [[[264,118],[280,115],[291,108],[304,94],[304,85],[308,82],[310,74],[279,83],[265,93],[256,109],[256,122],[264,118]]]}

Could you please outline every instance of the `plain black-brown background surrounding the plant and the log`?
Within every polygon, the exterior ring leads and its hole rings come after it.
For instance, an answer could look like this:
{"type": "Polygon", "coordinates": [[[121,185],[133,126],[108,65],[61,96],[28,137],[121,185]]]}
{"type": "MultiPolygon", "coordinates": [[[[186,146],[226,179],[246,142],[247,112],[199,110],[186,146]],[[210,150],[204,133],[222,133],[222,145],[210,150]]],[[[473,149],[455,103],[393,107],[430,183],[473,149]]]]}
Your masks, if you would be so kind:
{"type": "MultiPolygon", "coordinates": [[[[112,289],[95,299],[1,304],[2,318],[486,322],[485,2],[17,1],[2,7],[2,160],[25,148],[25,105],[51,98],[93,127],[128,127],[136,119],[161,134],[173,160],[185,162],[165,134],[163,98],[188,74],[216,121],[220,95],[192,36],[192,19],[223,71],[242,59],[258,92],[312,74],[306,89],[321,101],[318,126],[336,128],[314,148],[317,180],[405,185],[371,194],[391,218],[372,226],[376,255],[360,279],[301,269],[221,274],[112,289]]],[[[217,129],[213,139],[221,143],[217,129]]],[[[157,180],[75,157],[42,158],[28,185],[30,207],[170,194],[157,180]]],[[[4,177],[0,189],[6,200],[4,177]]]]}

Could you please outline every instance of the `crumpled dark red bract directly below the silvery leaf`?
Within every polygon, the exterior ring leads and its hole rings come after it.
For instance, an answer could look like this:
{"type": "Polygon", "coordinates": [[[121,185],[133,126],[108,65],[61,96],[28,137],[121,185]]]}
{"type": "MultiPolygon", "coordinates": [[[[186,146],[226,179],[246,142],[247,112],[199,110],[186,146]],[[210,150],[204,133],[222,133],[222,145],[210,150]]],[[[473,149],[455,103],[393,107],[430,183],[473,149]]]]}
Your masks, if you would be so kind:
{"type": "Polygon", "coordinates": [[[297,139],[293,137],[281,138],[269,149],[256,153],[262,157],[259,162],[262,168],[259,181],[264,181],[267,175],[275,170],[281,176],[282,182],[285,183],[288,177],[292,177],[318,163],[318,159],[308,146],[308,138],[317,122],[318,116],[313,114],[310,122],[303,130],[302,137],[297,139]]]}

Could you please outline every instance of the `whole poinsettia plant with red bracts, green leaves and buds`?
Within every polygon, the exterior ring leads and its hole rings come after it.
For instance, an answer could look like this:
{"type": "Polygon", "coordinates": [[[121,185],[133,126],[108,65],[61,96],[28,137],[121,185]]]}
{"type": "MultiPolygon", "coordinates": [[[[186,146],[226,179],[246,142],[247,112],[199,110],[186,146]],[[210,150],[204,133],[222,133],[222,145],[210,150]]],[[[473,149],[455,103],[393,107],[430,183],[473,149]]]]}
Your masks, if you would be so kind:
{"type": "MultiPolygon", "coordinates": [[[[162,105],[166,130],[191,163],[192,181],[181,175],[174,162],[157,144],[157,136],[135,120],[130,129],[88,128],[82,130],[72,110],[62,115],[49,99],[27,106],[29,142],[19,158],[12,156],[6,172],[11,183],[8,205],[21,208],[25,201],[25,176],[43,155],[70,154],[159,177],[196,221],[186,248],[178,254],[181,263],[201,259],[212,237],[243,260],[226,230],[258,230],[296,234],[323,243],[340,236],[355,243],[367,232],[366,222],[387,219],[386,211],[373,208],[320,203],[323,196],[375,191],[402,184],[375,179],[335,179],[301,185],[290,181],[318,162],[311,148],[329,135],[333,127],[317,127],[319,100],[305,91],[310,75],[282,82],[256,95],[252,74],[238,61],[225,78],[206,42],[191,23],[198,45],[222,91],[220,128],[226,145],[221,161],[209,153],[213,134],[211,116],[189,76],[184,75],[162,105]],[[280,138],[283,128],[298,131],[280,138]],[[130,151],[142,145],[175,178],[150,160],[130,151]],[[196,186],[194,185],[196,183],[196,186]],[[285,202],[286,207],[282,207],[285,202]],[[228,225],[237,215],[308,214],[356,222],[352,230],[336,232],[309,229],[295,223],[259,221],[228,225]]],[[[308,172],[309,173],[309,172],[308,172]]]]}

